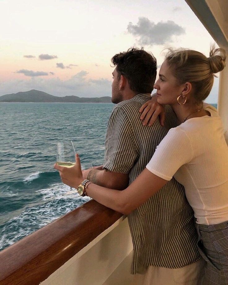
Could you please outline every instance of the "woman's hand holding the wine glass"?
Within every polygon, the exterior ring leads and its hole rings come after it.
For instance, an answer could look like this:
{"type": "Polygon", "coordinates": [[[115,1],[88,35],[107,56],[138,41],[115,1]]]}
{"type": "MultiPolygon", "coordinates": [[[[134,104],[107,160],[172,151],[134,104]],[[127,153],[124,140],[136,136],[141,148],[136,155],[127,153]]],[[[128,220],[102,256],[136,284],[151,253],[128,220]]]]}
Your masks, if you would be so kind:
{"type": "Polygon", "coordinates": [[[75,165],[71,168],[59,166],[56,163],[54,164],[54,168],[59,170],[60,178],[64,184],[77,189],[77,187],[83,181],[81,163],[78,154],[75,156],[75,162],[75,165]]]}

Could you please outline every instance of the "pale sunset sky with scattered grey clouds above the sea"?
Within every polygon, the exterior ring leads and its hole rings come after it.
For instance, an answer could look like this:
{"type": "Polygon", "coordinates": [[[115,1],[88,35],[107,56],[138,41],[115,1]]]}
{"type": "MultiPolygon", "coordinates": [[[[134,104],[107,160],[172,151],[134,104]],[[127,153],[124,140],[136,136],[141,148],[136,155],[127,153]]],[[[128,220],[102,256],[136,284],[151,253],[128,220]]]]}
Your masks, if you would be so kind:
{"type": "MultiPolygon", "coordinates": [[[[0,95],[111,96],[111,58],[130,47],[209,56],[213,38],[184,0],[0,0],[0,95]]],[[[158,70],[159,71],[159,70],[158,70]]],[[[215,79],[208,103],[217,103],[215,79]]]]}

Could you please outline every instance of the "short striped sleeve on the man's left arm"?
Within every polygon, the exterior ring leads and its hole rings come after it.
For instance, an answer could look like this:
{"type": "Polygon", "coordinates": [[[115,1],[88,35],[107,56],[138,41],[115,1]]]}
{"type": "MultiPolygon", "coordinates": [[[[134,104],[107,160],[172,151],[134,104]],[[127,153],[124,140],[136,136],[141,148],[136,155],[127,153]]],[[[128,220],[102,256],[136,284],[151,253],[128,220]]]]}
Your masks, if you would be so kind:
{"type": "Polygon", "coordinates": [[[116,106],[108,121],[103,168],[128,174],[135,160],[136,151],[131,125],[125,112],[116,106]]]}

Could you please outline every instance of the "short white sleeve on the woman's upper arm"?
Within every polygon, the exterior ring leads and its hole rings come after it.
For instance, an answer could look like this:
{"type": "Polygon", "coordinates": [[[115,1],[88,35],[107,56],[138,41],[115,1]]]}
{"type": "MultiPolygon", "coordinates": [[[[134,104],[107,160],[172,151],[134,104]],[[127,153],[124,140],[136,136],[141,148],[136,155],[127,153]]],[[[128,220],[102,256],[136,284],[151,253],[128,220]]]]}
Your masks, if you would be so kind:
{"type": "Polygon", "coordinates": [[[177,170],[191,161],[193,149],[186,132],[179,127],[170,129],[156,147],[146,168],[164,180],[171,180],[177,170]]]}

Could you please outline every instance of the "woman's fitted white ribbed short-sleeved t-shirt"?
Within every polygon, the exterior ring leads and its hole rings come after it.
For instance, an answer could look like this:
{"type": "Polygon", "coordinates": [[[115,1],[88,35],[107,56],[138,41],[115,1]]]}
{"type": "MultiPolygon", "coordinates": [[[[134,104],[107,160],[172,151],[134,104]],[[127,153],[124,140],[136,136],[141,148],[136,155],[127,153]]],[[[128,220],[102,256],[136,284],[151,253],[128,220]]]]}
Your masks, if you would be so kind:
{"type": "Polygon", "coordinates": [[[170,129],[146,168],[168,181],[174,176],[197,223],[211,225],[228,221],[228,147],[216,109],[206,109],[211,116],[170,129]]]}

